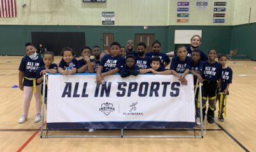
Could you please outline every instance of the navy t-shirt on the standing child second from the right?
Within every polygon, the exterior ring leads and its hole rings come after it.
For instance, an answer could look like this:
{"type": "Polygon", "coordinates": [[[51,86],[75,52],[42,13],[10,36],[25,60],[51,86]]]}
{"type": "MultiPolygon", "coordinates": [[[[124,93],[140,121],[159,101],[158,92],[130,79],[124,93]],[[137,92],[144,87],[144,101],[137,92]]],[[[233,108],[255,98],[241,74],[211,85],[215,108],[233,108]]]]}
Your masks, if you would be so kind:
{"type": "Polygon", "coordinates": [[[209,63],[208,61],[204,61],[202,76],[203,79],[217,82],[217,80],[222,77],[222,65],[220,65],[220,63],[217,61],[215,61],[213,64],[209,63]]]}

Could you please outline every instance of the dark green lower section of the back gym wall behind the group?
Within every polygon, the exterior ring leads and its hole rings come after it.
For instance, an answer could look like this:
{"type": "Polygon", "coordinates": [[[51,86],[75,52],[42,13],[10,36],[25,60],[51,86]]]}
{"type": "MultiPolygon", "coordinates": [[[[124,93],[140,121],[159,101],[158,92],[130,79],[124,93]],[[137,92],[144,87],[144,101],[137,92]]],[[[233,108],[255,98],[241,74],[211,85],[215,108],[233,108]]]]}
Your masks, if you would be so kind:
{"type": "Polygon", "coordinates": [[[114,41],[126,44],[135,39],[135,34],[155,34],[162,43],[162,52],[174,51],[175,30],[203,30],[201,49],[216,48],[229,53],[231,48],[231,26],[153,26],[144,30],[139,26],[58,26],[58,25],[0,25],[0,54],[23,55],[25,42],[31,42],[31,32],[85,32],[85,44],[103,48],[103,33],[113,33],[114,41]]]}

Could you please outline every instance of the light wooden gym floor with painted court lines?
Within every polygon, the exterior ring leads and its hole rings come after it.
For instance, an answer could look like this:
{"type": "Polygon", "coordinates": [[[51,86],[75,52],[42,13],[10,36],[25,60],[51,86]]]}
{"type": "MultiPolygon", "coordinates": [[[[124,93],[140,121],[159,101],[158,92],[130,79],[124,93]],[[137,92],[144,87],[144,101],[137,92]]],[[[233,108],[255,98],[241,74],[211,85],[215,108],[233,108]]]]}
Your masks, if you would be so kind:
{"type": "MultiPolygon", "coordinates": [[[[18,124],[22,114],[22,91],[18,85],[18,66],[22,56],[0,56],[0,151],[256,151],[256,62],[228,61],[233,83],[227,101],[225,122],[204,121],[203,139],[143,138],[55,138],[39,137],[40,123],[34,123],[35,104],[31,101],[28,120],[18,124]]],[[[55,57],[59,63],[60,57],[55,57]]],[[[196,134],[199,135],[199,131],[196,134]]],[[[119,134],[116,130],[51,131],[61,134],[119,134]]],[[[125,134],[193,135],[193,131],[134,130],[125,134]]]]}

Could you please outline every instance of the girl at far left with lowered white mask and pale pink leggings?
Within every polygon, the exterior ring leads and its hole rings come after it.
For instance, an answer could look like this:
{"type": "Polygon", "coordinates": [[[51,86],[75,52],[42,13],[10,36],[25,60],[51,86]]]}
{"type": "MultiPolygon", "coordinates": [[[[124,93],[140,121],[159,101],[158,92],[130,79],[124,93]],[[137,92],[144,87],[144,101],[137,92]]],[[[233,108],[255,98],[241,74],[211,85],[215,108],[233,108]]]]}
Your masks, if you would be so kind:
{"type": "Polygon", "coordinates": [[[22,58],[18,68],[18,87],[24,92],[23,112],[18,120],[20,124],[27,119],[33,92],[36,99],[36,118],[34,122],[41,120],[40,85],[36,83],[36,72],[39,66],[44,65],[44,63],[43,59],[37,55],[36,47],[32,43],[26,43],[25,49],[27,55],[22,58]]]}

